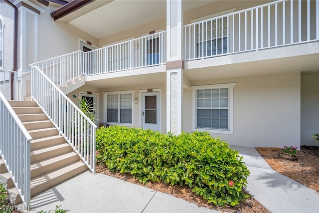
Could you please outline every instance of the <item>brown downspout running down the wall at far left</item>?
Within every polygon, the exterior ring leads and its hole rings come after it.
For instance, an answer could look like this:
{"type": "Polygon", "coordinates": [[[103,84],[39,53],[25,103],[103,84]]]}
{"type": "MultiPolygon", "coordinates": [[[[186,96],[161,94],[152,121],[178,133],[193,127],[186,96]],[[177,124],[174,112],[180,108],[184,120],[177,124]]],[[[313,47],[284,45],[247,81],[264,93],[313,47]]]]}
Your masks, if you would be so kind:
{"type": "MultiPolygon", "coordinates": [[[[18,43],[18,8],[9,0],[4,0],[14,9],[14,30],[13,30],[13,68],[12,71],[17,71],[17,43],[18,43]]],[[[11,73],[11,100],[14,99],[14,74],[11,73]]]]}

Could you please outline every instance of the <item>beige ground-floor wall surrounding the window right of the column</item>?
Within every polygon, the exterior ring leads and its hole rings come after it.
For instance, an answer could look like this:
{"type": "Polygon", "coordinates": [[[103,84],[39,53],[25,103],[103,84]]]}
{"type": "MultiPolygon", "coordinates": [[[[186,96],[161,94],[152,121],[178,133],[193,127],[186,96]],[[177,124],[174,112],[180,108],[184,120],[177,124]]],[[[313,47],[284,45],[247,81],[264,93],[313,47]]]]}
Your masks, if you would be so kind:
{"type": "MultiPolygon", "coordinates": [[[[212,79],[192,86],[237,83],[234,86],[234,134],[211,134],[231,145],[300,148],[299,73],[212,79]]],[[[184,131],[192,130],[190,89],[184,90],[184,131]]],[[[194,116],[194,115],[192,115],[194,116]]]]}

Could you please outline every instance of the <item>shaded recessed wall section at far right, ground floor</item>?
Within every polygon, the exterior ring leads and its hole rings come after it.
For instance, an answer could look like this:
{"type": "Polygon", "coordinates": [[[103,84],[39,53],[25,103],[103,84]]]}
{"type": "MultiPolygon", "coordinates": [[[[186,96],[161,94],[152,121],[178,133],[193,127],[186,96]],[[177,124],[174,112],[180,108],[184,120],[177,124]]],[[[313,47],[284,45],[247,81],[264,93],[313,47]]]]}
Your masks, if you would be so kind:
{"type": "Polygon", "coordinates": [[[319,73],[301,75],[301,145],[314,146],[319,133],[319,73]]]}

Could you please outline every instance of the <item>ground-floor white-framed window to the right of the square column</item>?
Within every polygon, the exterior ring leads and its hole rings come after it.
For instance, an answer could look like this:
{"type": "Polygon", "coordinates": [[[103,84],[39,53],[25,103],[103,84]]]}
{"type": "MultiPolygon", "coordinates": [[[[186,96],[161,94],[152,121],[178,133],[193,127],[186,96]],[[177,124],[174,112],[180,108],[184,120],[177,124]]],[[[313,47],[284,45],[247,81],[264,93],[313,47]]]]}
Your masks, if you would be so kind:
{"type": "Polygon", "coordinates": [[[233,134],[233,87],[231,84],[194,86],[194,130],[233,134]]]}

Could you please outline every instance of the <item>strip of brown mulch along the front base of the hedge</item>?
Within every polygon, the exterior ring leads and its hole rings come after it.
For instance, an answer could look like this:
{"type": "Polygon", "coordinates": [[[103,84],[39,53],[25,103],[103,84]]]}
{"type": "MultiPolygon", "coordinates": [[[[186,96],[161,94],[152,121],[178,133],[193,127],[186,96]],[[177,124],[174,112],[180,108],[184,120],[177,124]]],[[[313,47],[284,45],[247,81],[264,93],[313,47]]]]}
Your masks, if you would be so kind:
{"type": "MultiPolygon", "coordinates": [[[[98,153],[96,155],[98,155],[98,153]]],[[[188,186],[185,186],[185,185],[182,187],[180,187],[179,185],[171,186],[171,185],[165,185],[163,183],[157,183],[157,182],[148,182],[148,184],[141,184],[138,180],[133,178],[132,175],[119,173],[119,172],[112,173],[104,165],[101,165],[100,163],[101,162],[96,162],[97,173],[105,174],[114,178],[121,179],[123,181],[142,185],[144,187],[148,187],[153,190],[157,190],[159,192],[172,195],[176,198],[183,199],[189,203],[194,203],[198,207],[205,207],[212,210],[218,210],[221,212],[228,212],[228,213],[270,213],[263,205],[261,205],[258,201],[256,201],[252,197],[246,199],[246,202],[243,202],[240,206],[236,206],[236,207],[227,206],[225,208],[222,208],[212,203],[210,204],[207,203],[207,201],[203,200],[200,196],[192,192],[188,186]]]]}

